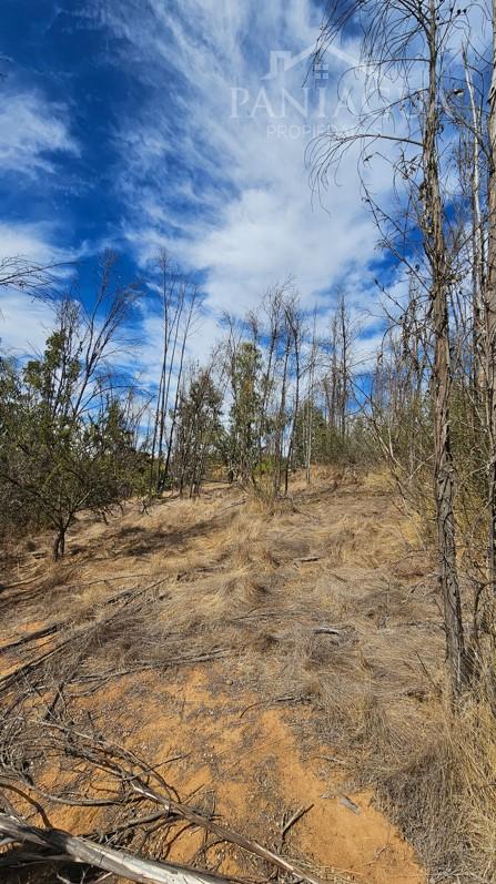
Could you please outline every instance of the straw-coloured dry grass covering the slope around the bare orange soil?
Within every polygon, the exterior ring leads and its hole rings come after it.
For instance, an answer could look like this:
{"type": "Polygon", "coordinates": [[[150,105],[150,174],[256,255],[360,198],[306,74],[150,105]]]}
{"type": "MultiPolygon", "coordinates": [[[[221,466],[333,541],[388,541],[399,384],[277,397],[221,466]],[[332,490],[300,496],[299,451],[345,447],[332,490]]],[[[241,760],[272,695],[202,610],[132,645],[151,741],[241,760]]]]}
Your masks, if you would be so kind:
{"type": "Polygon", "coordinates": [[[69,566],[19,592],[12,628],[42,610],[91,627],[44,670],[45,684],[71,684],[69,704],[98,704],[124,672],[150,669],[160,683],[202,660],[216,661],[213,690],[302,703],[302,751],[330,746],[355,788],[373,788],[433,881],[494,881],[494,698],[446,707],[428,555],[383,477],[337,478],[302,482],[271,511],[211,489],[149,515],[130,508],[108,528],[83,522],[69,566]],[[112,580],[126,572],[146,577],[112,580]],[[159,578],[109,620],[112,593],[159,578]]]}

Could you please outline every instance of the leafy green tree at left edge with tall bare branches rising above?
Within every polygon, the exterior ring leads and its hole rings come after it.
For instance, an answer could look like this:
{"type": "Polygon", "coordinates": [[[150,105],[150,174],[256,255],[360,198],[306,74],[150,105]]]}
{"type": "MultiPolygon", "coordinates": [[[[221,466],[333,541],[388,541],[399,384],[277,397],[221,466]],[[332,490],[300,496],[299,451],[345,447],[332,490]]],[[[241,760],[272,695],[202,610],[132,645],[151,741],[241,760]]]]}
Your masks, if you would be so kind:
{"type": "Polygon", "coordinates": [[[65,297],[44,353],[22,366],[1,364],[2,494],[18,502],[11,518],[53,528],[55,558],[78,512],[101,514],[129,488],[121,479],[124,465],[129,478],[133,434],[114,363],[138,291],[121,282],[115,256],[105,255],[92,306],[65,297]]]}

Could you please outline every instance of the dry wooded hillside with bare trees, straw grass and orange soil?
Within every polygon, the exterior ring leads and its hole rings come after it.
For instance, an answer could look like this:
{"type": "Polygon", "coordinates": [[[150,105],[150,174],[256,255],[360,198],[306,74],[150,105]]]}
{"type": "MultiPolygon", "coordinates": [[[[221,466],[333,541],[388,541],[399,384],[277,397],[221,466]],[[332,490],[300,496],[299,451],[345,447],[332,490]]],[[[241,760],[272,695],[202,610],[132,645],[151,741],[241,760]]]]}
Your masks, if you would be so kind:
{"type": "Polygon", "coordinates": [[[168,252],[102,254],[90,306],[78,267],[1,263],[53,316],[0,354],[12,884],[496,880],[496,3],[332,0],[312,63],[352,27],[363,104],[308,144],[308,199],[356,158],[376,352],[345,285],[323,323],[274,283],[198,362],[168,252]]]}

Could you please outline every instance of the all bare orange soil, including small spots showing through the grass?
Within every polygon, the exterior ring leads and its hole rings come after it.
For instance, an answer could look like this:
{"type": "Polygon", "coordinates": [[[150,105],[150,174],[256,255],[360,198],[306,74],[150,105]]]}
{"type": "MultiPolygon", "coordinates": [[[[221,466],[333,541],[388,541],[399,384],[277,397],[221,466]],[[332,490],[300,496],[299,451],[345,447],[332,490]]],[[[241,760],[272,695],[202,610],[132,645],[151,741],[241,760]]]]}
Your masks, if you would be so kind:
{"type": "MultiPolygon", "coordinates": [[[[178,508],[186,511],[181,501],[178,508]]],[[[361,508],[360,500],[354,501],[353,511],[360,514],[361,508]]],[[[158,520],[156,514],[153,519],[158,520]]],[[[90,522],[88,539],[100,542],[105,530],[90,522]]],[[[215,537],[203,538],[203,552],[213,549],[215,542],[215,537]]],[[[372,531],[373,555],[379,545],[381,538],[372,531]]],[[[82,562],[83,578],[88,580],[92,572],[102,573],[104,569],[109,577],[124,572],[122,555],[125,553],[113,543],[105,547],[99,565],[91,567],[91,559],[82,562]]],[[[181,548],[171,550],[174,565],[181,562],[182,555],[181,548]]],[[[346,559],[341,560],[345,570],[346,559]]],[[[138,553],[131,552],[128,562],[130,571],[140,570],[138,553]]],[[[151,561],[141,567],[146,571],[150,565],[156,568],[158,563],[153,552],[151,561]]],[[[110,591],[114,588],[110,585],[110,591]]],[[[102,587],[98,592],[101,591],[102,587]]],[[[30,626],[39,628],[43,621],[31,621],[30,626]]],[[[125,743],[149,762],[182,755],[162,773],[183,801],[190,797],[193,805],[214,809],[225,826],[281,850],[323,878],[362,884],[425,882],[413,849],[374,805],[373,794],[346,791],[346,768],[334,759],[333,748],[316,739],[301,745],[297,728],[305,723],[307,708],[291,703],[271,708],[250,690],[233,687],[230,675],[229,659],[203,668],[169,670],[162,675],[128,675],[111,682],[84,704],[111,720],[112,728],[124,734],[125,743]],[[284,820],[298,809],[308,807],[283,843],[284,820]]],[[[53,781],[59,776],[63,776],[60,771],[50,772],[53,781]]],[[[59,805],[50,807],[49,815],[53,825],[74,834],[91,831],[103,819],[98,809],[59,805]]],[[[173,844],[165,845],[161,839],[161,833],[155,834],[145,852],[153,852],[155,858],[166,855],[184,863],[192,862],[205,844],[204,833],[193,829],[184,831],[173,844]]],[[[204,865],[205,858],[221,873],[247,872],[241,851],[230,846],[209,847],[199,865],[204,865]]]]}

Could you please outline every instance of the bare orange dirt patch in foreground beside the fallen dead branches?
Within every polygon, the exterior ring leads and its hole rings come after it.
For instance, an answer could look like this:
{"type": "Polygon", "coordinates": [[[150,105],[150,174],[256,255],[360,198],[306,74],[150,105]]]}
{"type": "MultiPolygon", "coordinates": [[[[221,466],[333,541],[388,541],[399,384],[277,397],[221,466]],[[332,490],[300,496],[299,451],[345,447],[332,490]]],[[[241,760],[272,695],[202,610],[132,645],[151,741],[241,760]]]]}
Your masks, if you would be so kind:
{"type": "MultiPolygon", "coordinates": [[[[233,697],[231,684],[223,690],[227,673],[222,667],[212,674],[193,671],[154,705],[149,700],[136,704],[142,751],[156,759],[186,755],[172,768],[172,781],[185,794],[214,800],[212,806],[232,827],[283,850],[324,878],[424,882],[412,847],[374,806],[373,795],[346,792],[332,748],[306,745],[302,755],[298,719],[307,712],[296,707],[291,713],[261,707],[244,712],[250,698],[233,697]],[[303,809],[308,810],[281,841],[284,820],[303,809]]],[[[190,833],[171,855],[191,862],[201,845],[202,835],[190,833]]],[[[243,872],[235,850],[214,850],[210,860],[224,873],[243,872]]]]}

